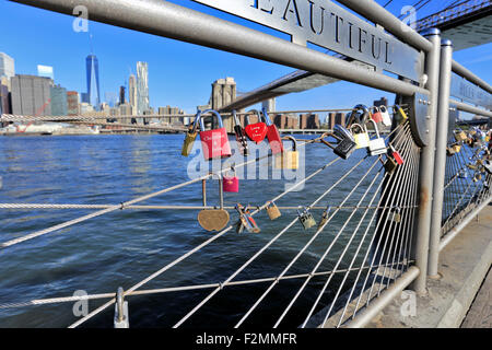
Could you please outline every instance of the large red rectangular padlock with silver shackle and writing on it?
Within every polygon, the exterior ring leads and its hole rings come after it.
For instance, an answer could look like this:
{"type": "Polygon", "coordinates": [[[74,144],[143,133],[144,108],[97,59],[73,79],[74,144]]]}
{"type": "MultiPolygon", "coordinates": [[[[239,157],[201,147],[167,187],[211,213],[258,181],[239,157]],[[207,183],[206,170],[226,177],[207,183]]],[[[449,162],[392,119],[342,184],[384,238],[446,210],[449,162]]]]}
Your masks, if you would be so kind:
{"type": "Polygon", "coordinates": [[[222,124],[221,115],[213,110],[199,112],[197,118],[200,120],[200,140],[206,161],[231,156],[231,145],[229,144],[227,130],[222,124]],[[212,113],[219,121],[219,129],[204,131],[203,114],[212,113]]]}

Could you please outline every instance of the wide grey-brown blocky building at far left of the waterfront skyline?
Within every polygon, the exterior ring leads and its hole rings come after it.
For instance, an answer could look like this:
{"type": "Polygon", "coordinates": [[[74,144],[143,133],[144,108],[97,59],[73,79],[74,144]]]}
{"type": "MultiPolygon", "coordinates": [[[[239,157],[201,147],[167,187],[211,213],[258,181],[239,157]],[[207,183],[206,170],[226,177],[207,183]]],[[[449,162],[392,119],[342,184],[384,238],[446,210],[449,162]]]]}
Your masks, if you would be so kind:
{"type": "Polygon", "coordinates": [[[51,86],[49,78],[16,74],[11,79],[12,113],[24,116],[51,115],[51,86]]]}

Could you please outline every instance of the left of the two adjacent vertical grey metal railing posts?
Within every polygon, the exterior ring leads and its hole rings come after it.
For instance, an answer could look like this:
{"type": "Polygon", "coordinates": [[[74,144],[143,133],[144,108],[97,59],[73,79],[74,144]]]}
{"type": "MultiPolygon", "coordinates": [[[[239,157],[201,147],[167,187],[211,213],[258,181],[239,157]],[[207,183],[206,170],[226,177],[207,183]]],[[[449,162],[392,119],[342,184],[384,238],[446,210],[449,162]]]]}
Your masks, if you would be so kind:
{"type": "Polygon", "coordinates": [[[427,145],[422,148],[419,170],[419,213],[417,217],[417,234],[413,241],[413,257],[420,270],[419,277],[411,288],[419,294],[426,293],[426,275],[429,260],[429,235],[431,232],[432,186],[434,178],[435,128],[437,118],[437,96],[440,88],[441,31],[430,30],[423,34],[433,45],[426,55],[426,88],[431,92],[429,110],[427,145]]]}

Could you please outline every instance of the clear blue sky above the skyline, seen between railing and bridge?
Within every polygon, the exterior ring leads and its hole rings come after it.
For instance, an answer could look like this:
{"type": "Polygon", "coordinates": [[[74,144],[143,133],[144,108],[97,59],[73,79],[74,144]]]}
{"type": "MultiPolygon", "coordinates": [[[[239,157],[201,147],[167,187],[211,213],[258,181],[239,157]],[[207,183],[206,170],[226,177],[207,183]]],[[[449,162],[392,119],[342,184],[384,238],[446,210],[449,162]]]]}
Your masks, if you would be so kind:
{"type": "MultiPolygon", "coordinates": [[[[279,35],[189,0],[169,2],[279,35]]],[[[388,1],[377,2],[385,4],[388,1]]],[[[415,2],[395,0],[387,9],[398,15],[403,5],[415,2]]],[[[433,0],[418,11],[418,18],[424,18],[452,2],[433,0]]],[[[85,57],[91,51],[90,39],[87,33],[73,32],[72,22],[73,18],[68,15],[0,0],[0,23],[3,27],[0,51],[15,59],[16,73],[36,74],[37,65],[52,66],[56,83],[84,92],[85,57]]],[[[117,93],[128,80],[130,70],[136,72],[137,61],[147,61],[150,102],[154,108],[172,105],[194,113],[197,105],[208,103],[211,83],[219,78],[234,77],[238,91],[248,92],[294,70],[95,22],[90,22],[89,33],[93,35],[94,52],[99,61],[102,97],[105,92],[117,93]]],[[[492,81],[492,44],[455,52],[455,59],[485,81],[492,81]]],[[[390,101],[394,98],[386,92],[340,82],[279,97],[277,108],[350,108],[359,103],[371,104],[380,96],[390,101]],[[354,96],[360,96],[360,100],[355,101],[354,96]]]]}

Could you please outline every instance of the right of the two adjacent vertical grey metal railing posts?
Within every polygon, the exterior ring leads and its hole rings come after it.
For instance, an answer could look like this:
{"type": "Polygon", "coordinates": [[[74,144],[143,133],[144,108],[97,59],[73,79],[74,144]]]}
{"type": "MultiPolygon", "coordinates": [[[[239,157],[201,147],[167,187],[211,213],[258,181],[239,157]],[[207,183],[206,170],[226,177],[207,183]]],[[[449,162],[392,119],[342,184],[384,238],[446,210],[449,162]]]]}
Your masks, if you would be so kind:
{"type": "Polygon", "coordinates": [[[440,259],[441,224],[443,218],[444,177],[446,173],[446,147],[449,122],[449,93],[453,65],[453,43],[443,40],[441,45],[441,77],[437,110],[436,151],[434,162],[434,186],[431,218],[431,237],[429,241],[427,275],[436,278],[440,259]]]}

